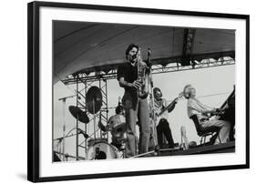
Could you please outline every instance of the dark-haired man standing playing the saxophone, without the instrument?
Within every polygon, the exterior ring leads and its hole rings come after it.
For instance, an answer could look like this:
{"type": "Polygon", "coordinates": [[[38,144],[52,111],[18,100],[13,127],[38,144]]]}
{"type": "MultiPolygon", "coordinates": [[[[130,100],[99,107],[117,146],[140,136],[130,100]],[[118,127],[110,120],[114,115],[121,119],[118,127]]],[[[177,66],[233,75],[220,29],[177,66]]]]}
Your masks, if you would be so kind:
{"type": "MultiPolygon", "coordinates": [[[[138,46],[130,44],[126,49],[127,62],[118,66],[118,83],[125,89],[122,98],[125,108],[127,137],[126,157],[134,157],[137,154],[136,123],[139,124],[139,144],[138,153],[148,152],[149,144],[149,116],[148,100],[138,96],[138,89],[141,83],[138,82],[138,46]]],[[[146,66],[146,63],[139,61],[140,65],[146,66]]]]}

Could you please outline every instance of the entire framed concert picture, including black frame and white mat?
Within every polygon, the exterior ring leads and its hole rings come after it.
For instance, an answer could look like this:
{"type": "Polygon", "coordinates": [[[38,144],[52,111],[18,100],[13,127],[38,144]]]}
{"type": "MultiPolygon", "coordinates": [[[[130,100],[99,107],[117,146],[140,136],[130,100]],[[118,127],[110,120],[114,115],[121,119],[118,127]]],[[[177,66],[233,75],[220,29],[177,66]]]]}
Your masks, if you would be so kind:
{"type": "Polygon", "coordinates": [[[33,2],[28,53],[29,180],[249,168],[249,15],[33,2]]]}

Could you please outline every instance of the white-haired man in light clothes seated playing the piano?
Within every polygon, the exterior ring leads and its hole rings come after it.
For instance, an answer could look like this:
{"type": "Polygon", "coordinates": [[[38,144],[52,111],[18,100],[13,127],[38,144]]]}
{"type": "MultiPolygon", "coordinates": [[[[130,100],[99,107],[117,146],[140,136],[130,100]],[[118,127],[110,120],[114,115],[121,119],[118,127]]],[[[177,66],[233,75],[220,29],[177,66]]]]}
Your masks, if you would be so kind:
{"type": "Polygon", "coordinates": [[[209,114],[220,111],[220,108],[207,107],[196,98],[196,89],[191,85],[187,85],[183,90],[184,97],[188,99],[188,116],[191,118],[196,115],[199,119],[201,128],[219,127],[220,140],[215,139],[214,144],[226,143],[230,134],[230,122],[217,118],[210,119],[209,114]]]}

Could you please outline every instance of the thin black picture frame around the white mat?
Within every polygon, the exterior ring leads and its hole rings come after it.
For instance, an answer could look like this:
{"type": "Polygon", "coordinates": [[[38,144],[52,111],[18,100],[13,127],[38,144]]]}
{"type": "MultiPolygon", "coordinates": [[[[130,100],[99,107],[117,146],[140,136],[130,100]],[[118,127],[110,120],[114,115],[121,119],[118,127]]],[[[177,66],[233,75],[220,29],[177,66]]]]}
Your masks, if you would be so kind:
{"type": "Polygon", "coordinates": [[[71,180],[71,179],[99,179],[113,178],[125,176],[139,175],[156,175],[182,172],[197,172],[207,170],[224,170],[224,169],[249,169],[250,167],[250,15],[234,15],[234,14],[219,14],[194,11],[178,11],[167,9],[152,9],[152,8],[137,8],[137,7],[122,7],[109,5],[81,5],[67,3],[52,3],[52,2],[32,2],[27,5],[27,179],[33,182],[56,181],[56,180],[71,180]],[[40,162],[39,162],[39,135],[40,132],[40,113],[39,113],[39,97],[40,97],[40,78],[39,78],[39,29],[40,29],[40,8],[72,8],[82,10],[104,10],[132,13],[148,13],[152,15],[189,15],[203,16],[216,18],[241,19],[246,25],[246,163],[241,165],[227,165],[218,167],[200,167],[186,169],[159,169],[159,170],[140,170],[130,172],[114,172],[114,173],[97,173],[85,175],[70,175],[70,176],[52,176],[40,177],[40,162]]]}

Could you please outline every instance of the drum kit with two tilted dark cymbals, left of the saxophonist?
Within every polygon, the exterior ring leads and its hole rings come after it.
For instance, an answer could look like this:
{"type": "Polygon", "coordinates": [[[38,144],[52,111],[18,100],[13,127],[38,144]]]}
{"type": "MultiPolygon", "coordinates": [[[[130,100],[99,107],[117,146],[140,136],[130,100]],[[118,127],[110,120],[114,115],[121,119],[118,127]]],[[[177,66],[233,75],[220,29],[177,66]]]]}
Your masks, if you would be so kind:
{"type": "MultiPolygon", "coordinates": [[[[115,138],[119,138],[119,144],[123,145],[121,148],[116,148],[114,145],[108,143],[108,138],[97,138],[96,137],[96,114],[101,109],[102,106],[102,94],[98,87],[90,87],[87,91],[86,96],[86,106],[87,112],[93,116],[94,123],[94,133],[93,137],[87,135],[87,133],[80,128],[78,134],[81,133],[87,140],[87,154],[86,159],[108,159],[108,158],[124,158],[124,144],[126,142],[126,125],[119,124],[108,131],[111,132],[112,136],[115,138]]],[[[87,116],[87,112],[83,111],[79,107],[70,106],[68,107],[69,112],[74,118],[77,118],[78,121],[88,124],[89,118],[87,116]]],[[[101,129],[101,128],[99,128],[101,129]]],[[[106,132],[108,133],[108,132],[106,132]]]]}

